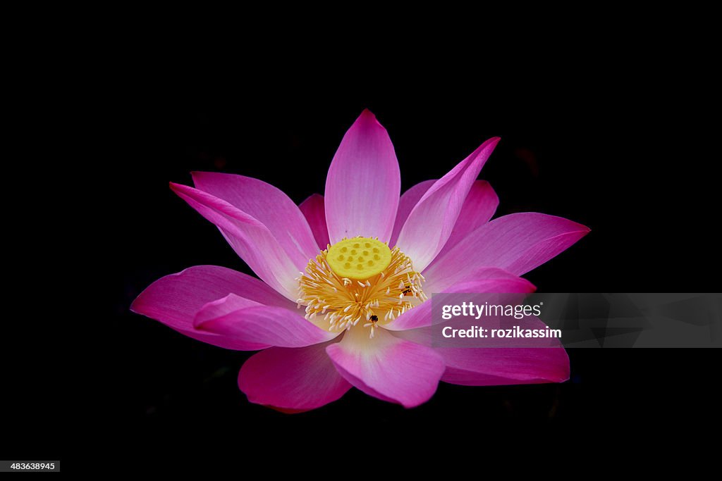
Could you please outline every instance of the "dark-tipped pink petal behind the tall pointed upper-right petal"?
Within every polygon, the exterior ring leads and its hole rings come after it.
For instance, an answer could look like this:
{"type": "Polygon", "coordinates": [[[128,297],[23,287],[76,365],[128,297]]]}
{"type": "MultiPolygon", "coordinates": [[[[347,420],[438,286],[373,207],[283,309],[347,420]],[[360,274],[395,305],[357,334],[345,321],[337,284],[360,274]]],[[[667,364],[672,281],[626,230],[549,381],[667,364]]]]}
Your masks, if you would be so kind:
{"type": "Polygon", "coordinates": [[[499,198],[489,182],[486,180],[474,182],[458,214],[451,236],[438,255],[444,255],[472,231],[486,224],[494,216],[497,206],[499,206],[499,198]]]}

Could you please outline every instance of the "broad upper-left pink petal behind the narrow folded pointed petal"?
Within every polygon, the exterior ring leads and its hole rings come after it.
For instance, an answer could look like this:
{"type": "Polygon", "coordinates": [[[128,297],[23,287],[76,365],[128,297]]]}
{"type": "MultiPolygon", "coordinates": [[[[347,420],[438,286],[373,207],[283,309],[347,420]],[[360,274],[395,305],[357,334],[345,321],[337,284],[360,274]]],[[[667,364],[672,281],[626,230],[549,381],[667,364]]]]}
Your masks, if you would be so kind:
{"type": "Polygon", "coordinates": [[[264,224],[296,265],[318,255],[308,222],[282,190],[262,180],[219,172],[192,172],[196,188],[225,200],[264,224]]]}

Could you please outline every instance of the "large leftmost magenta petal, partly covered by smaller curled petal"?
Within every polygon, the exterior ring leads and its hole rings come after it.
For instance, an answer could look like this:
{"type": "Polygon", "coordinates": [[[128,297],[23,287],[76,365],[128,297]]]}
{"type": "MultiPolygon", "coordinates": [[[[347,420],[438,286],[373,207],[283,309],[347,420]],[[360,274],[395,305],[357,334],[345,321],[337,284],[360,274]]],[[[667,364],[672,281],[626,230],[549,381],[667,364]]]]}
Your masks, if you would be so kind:
{"type": "Polygon", "coordinates": [[[234,339],[193,329],[193,318],[204,305],[230,293],[248,302],[295,309],[295,304],[250,275],[216,265],[199,265],[158,279],[133,301],[131,310],[193,339],[222,348],[245,349],[234,339]]]}

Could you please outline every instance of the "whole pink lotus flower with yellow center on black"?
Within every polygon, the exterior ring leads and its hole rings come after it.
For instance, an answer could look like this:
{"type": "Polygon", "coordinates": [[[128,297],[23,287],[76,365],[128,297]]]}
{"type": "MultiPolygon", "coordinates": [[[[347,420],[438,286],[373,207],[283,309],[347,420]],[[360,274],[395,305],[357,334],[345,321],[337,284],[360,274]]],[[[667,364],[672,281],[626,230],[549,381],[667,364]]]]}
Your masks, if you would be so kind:
{"type": "Polygon", "coordinates": [[[433,349],[418,336],[431,325],[427,294],[534,291],[518,276],[589,230],[541,213],[489,221],[498,198],[477,176],[498,141],[400,198],[391,140],[368,110],[336,151],[325,198],[296,206],[261,180],[193,172],[195,188],[170,188],[261,280],[196,266],[155,281],[131,309],[206,343],[261,350],[238,385],[249,401],[287,412],[321,407],[352,386],[414,407],[439,381],[565,381],[562,347],[433,349]]]}

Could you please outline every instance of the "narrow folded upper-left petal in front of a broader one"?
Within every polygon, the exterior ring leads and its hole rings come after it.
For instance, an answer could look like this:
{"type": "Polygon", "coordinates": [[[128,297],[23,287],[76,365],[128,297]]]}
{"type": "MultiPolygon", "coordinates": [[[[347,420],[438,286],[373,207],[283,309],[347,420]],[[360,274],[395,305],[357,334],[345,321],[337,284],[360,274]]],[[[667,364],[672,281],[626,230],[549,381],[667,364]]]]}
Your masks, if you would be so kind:
{"type": "Polygon", "coordinates": [[[215,224],[233,250],[258,277],[288,299],[295,300],[295,278],[308,263],[292,260],[271,231],[247,213],[202,190],[171,182],[170,188],[201,216],[215,224]]]}

